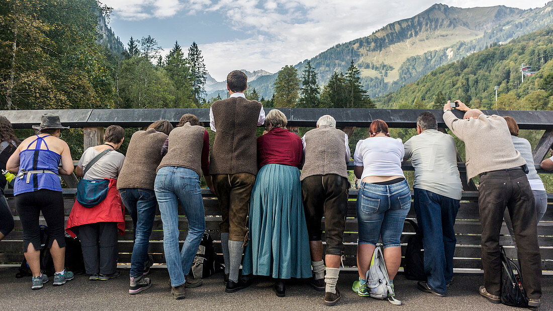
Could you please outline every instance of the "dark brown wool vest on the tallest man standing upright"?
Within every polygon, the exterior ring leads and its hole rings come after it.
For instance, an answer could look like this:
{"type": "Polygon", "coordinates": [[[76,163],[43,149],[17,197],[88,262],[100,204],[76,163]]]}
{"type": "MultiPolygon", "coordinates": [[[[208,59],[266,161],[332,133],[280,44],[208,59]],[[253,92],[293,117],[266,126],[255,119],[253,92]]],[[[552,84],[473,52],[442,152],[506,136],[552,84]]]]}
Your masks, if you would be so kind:
{"type": "Polygon", "coordinates": [[[211,105],[217,126],[210,174],[257,174],[257,122],[261,103],[231,97],[211,105]]]}

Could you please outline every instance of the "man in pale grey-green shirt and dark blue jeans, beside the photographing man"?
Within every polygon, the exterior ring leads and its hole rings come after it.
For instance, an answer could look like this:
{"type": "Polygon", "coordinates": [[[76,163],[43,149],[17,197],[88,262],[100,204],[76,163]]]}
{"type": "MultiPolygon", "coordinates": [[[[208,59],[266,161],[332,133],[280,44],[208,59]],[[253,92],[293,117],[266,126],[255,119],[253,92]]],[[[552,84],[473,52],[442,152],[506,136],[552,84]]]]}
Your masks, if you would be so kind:
{"type": "Polygon", "coordinates": [[[424,112],[416,122],[418,135],[405,142],[405,158],[415,168],[414,208],[422,231],[427,282],[418,288],[445,296],[453,277],[455,218],[463,186],[457,169],[457,148],[450,135],[438,131],[434,114],[424,112]]]}

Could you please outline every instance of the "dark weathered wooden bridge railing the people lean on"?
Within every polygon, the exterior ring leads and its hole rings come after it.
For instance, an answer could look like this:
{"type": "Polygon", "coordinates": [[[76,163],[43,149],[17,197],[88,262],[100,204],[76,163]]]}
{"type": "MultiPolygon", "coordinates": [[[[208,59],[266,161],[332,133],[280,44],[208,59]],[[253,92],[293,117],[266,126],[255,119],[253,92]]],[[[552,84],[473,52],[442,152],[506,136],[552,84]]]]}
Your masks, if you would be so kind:
{"type": "MultiPolygon", "coordinates": [[[[265,109],[268,112],[269,109],[265,109]]],[[[337,120],[337,125],[342,127],[349,135],[354,131],[354,126],[368,127],[374,119],[385,120],[390,127],[395,128],[413,128],[416,123],[418,114],[425,110],[401,110],[401,109],[294,109],[283,108],[283,111],[289,119],[289,126],[315,126],[317,119],[323,114],[330,114],[337,120]]],[[[105,126],[118,124],[124,127],[139,128],[148,125],[158,119],[168,119],[172,123],[178,123],[180,116],[184,113],[196,114],[201,122],[208,126],[208,109],[83,109],[83,110],[48,110],[49,112],[58,113],[61,122],[72,127],[84,129],[84,145],[98,145],[102,143],[102,133],[105,126]]],[[[6,115],[11,120],[14,128],[30,128],[40,122],[40,115],[46,110],[29,110],[29,111],[1,111],[0,115],[6,115]]],[[[431,110],[435,113],[439,126],[443,128],[445,124],[441,119],[440,110],[431,110]]],[[[460,113],[460,112],[455,112],[460,113]]],[[[553,144],[553,112],[525,112],[525,111],[488,111],[487,114],[510,115],[517,120],[521,129],[536,129],[545,130],[538,145],[534,149],[535,163],[541,162],[547,151],[553,144]]],[[[350,141],[350,144],[353,144],[350,141]]],[[[461,160],[461,159],[460,159],[461,160]]],[[[457,236],[457,247],[455,251],[454,266],[456,269],[481,269],[480,260],[481,246],[480,234],[481,224],[478,213],[478,192],[476,186],[471,180],[466,178],[466,168],[463,162],[458,163],[463,180],[463,194],[461,208],[457,214],[455,231],[457,236]]],[[[349,164],[351,169],[351,163],[349,164]]],[[[545,173],[539,166],[537,167],[540,173],[545,173]]],[[[413,170],[410,162],[403,165],[405,171],[413,170]]],[[[66,219],[71,212],[71,207],[75,201],[75,185],[76,177],[65,177],[66,185],[70,188],[64,188],[64,208],[66,219]]],[[[207,189],[202,189],[204,197],[204,207],[206,215],[206,228],[216,240],[216,250],[220,252],[220,242],[218,223],[221,220],[220,210],[218,208],[217,199],[213,197],[207,189]]],[[[12,213],[15,219],[15,228],[6,239],[0,241],[0,263],[18,263],[23,260],[22,254],[22,239],[23,231],[17,210],[13,205],[13,193],[8,189],[6,191],[8,204],[12,208],[12,213]]],[[[344,234],[345,243],[345,266],[355,266],[355,253],[357,242],[357,215],[355,208],[355,200],[357,198],[357,190],[352,189],[349,194],[348,218],[346,222],[346,233],[344,234]]],[[[542,269],[553,271],[553,195],[549,194],[549,208],[538,225],[538,235],[540,243],[540,251],[542,258],[542,269]]],[[[187,230],[187,221],[184,216],[184,210],[179,208],[179,230],[180,240],[185,239],[187,230]]],[[[415,219],[415,211],[411,208],[408,218],[415,219]]],[[[44,223],[44,219],[40,218],[40,222],[44,223]]],[[[45,223],[44,223],[45,224],[45,223]]],[[[324,226],[324,222],[322,223],[324,226]]],[[[133,247],[133,232],[132,221],[127,217],[126,232],[119,236],[119,262],[128,263],[131,259],[133,247]]],[[[159,216],[159,210],[156,213],[154,220],[154,228],[152,236],[150,236],[149,252],[154,256],[155,262],[165,262],[163,256],[163,231],[162,223],[159,216]]],[[[406,240],[410,235],[413,235],[413,228],[409,224],[404,225],[404,233],[401,238],[402,247],[405,247],[406,240]]],[[[516,258],[512,240],[508,236],[508,230],[503,225],[501,231],[500,242],[506,246],[507,254],[510,257],[516,258]]],[[[458,270],[457,270],[458,271],[458,270]]]]}

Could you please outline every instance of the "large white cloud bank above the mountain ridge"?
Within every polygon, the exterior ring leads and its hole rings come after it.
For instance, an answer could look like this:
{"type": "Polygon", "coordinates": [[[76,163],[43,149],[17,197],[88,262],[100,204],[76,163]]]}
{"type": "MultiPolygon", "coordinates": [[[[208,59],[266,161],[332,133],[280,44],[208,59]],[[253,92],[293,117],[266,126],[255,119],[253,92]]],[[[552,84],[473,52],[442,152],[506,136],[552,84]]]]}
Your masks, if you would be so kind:
{"type": "MultiPolygon", "coordinates": [[[[220,12],[249,38],[201,44],[207,70],[223,80],[233,69],[276,72],[331,46],[370,35],[396,20],[413,17],[435,0],[188,0],[188,12],[220,12]]],[[[449,6],[539,7],[543,0],[451,0],[449,6]]]]}

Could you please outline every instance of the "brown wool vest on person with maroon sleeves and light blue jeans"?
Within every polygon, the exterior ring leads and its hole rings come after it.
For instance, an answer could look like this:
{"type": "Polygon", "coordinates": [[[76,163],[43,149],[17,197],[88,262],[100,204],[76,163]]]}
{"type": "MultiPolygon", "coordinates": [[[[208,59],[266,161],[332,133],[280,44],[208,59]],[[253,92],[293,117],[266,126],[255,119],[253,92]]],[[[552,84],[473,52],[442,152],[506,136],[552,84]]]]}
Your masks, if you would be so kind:
{"type": "Polygon", "coordinates": [[[198,173],[198,176],[202,176],[204,132],[203,126],[192,126],[190,123],[172,130],[169,134],[169,149],[161,160],[158,170],[164,166],[186,167],[198,173]]]}

